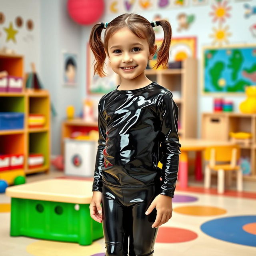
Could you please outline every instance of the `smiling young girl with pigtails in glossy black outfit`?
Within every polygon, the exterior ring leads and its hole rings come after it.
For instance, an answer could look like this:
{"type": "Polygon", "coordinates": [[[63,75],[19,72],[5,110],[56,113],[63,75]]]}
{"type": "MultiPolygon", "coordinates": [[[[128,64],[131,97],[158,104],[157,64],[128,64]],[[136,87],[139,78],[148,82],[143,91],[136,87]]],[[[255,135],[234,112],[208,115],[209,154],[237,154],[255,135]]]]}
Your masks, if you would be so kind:
{"type": "Polygon", "coordinates": [[[164,40],[155,66],[165,67],[172,37],[166,20],[149,22],[138,14],[122,14],[94,25],[90,34],[94,74],[104,76],[107,56],[121,78],[98,104],[90,215],[102,222],[106,256],[127,256],[128,241],[129,256],[153,255],[158,227],[172,217],[181,146],[178,106],[170,90],[145,75],[157,48],[153,27],[159,25],[164,40]]]}

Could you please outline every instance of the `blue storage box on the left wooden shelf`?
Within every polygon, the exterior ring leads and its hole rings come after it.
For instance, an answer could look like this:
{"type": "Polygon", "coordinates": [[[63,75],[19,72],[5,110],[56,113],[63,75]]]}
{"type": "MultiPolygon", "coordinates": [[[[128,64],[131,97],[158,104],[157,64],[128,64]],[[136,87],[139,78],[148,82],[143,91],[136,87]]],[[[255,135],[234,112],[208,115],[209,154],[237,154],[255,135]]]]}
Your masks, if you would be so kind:
{"type": "Polygon", "coordinates": [[[0,130],[23,129],[24,113],[0,112],[0,130]]]}

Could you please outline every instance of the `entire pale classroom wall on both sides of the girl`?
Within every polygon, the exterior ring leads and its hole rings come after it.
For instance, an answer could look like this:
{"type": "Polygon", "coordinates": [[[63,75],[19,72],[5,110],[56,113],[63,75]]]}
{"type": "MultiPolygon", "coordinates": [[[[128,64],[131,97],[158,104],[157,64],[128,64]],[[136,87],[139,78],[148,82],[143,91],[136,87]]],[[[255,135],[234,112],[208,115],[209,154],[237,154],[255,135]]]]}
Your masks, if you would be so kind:
{"type": "MultiPolygon", "coordinates": [[[[52,102],[58,115],[52,118],[52,154],[60,154],[60,132],[61,122],[66,118],[66,106],[74,105],[76,116],[82,110],[82,100],[86,95],[86,44],[88,43],[90,31],[93,26],[80,26],[76,24],[69,16],[66,10],[67,0],[0,0],[0,12],[6,14],[6,21],[0,24],[0,47],[8,46],[17,53],[25,56],[25,71],[30,72],[30,62],[36,63],[40,80],[46,89],[50,91],[52,102]],[[34,21],[34,30],[28,32],[25,27],[18,30],[16,35],[17,42],[6,42],[6,33],[4,27],[9,26],[9,22],[14,22],[16,16],[22,16],[24,20],[31,18],[34,21]],[[27,39],[26,39],[27,38],[27,39]],[[31,39],[32,38],[32,39],[31,39]],[[30,40],[29,40],[30,39],[30,40]],[[62,82],[62,53],[70,51],[78,54],[78,85],[74,87],[63,86],[62,82]]],[[[124,1],[116,1],[122,8],[118,8],[116,13],[110,12],[110,4],[114,0],[106,0],[105,14],[98,22],[110,22],[116,16],[126,12],[124,10],[124,1]]],[[[138,2],[138,1],[135,1],[138,2]]],[[[158,1],[154,1],[158,2],[158,1]]],[[[189,1],[190,3],[191,1],[189,1]]],[[[213,97],[201,95],[200,85],[200,65],[201,48],[212,44],[212,38],[209,37],[214,27],[218,27],[217,22],[212,21],[212,0],[206,1],[204,6],[189,6],[182,8],[142,10],[138,6],[129,12],[141,14],[149,21],[153,20],[155,14],[160,14],[162,18],[168,18],[172,25],[173,37],[196,36],[197,58],[198,58],[198,136],[200,135],[201,113],[212,111],[213,97]],[[177,16],[181,12],[187,15],[194,14],[195,21],[187,30],[177,31],[177,16]]],[[[255,14],[248,19],[244,18],[244,3],[248,2],[250,6],[256,5],[256,1],[235,1],[230,0],[228,6],[231,6],[230,18],[226,18],[224,26],[229,26],[228,37],[229,44],[255,43],[255,37],[249,30],[255,22],[255,14]]],[[[216,4],[215,4],[216,5],[216,4]]],[[[99,96],[91,96],[99,100],[99,96]]],[[[234,111],[238,111],[238,106],[243,96],[225,97],[234,100],[234,111]]]]}

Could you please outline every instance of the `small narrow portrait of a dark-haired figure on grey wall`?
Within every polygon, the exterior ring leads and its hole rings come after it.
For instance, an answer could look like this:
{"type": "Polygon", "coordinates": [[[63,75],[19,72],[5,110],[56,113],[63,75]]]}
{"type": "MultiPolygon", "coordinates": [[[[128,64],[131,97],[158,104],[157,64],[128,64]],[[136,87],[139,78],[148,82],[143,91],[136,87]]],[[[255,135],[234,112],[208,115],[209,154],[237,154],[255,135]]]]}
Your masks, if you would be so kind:
{"type": "Polygon", "coordinates": [[[63,52],[63,84],[67,86],[77,85],[77,54],[63,52]]]}

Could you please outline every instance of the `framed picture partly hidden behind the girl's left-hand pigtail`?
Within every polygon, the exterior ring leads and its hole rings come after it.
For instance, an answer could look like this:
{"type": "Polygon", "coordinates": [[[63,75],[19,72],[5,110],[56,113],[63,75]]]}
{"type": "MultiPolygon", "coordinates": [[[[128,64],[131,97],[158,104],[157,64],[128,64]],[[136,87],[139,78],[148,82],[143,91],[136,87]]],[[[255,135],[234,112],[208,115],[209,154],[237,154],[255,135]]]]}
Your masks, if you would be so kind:
{"type": "Polygon", "coordinates": [[[100,77],[95,73],[94,75],[95,58],[90,48],[89,42],[87,43],[87,79],[86,79],[86,92],[87,94],[106,94],[116,88],[118,85],[119,76],[112,70],[108,58],[105,59],[104,72],[108,76],[100,77]]]}

